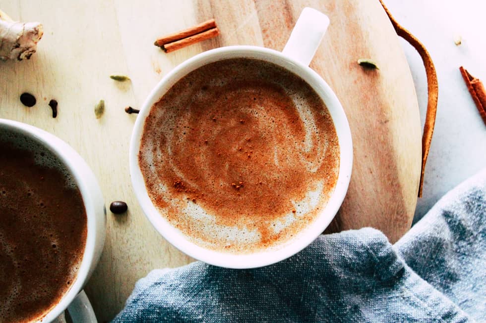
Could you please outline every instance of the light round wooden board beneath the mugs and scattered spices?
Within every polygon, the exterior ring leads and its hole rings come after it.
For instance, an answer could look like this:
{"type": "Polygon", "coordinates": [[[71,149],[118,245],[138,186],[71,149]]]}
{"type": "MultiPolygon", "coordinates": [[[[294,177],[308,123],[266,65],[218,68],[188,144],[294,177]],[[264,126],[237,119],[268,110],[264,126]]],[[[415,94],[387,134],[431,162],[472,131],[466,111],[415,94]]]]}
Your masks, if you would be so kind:
{"type": "Polygon", "coordinates": [[[137,279],[155,268],[192,261],[151,227],[130,185],[128,144],[138,107],[156,83],[185,59],[210,48],[257,45],[281,50],[304,6],[329,15],[331,24],[311,63],[346,110],[354,141],[348,195],[329,231],[372,226],[395,241],[412,222],[420,173],[420,120],[405,56],[377,0],[2,1],[12,18],[41,21],[44,38],[29,61],[0,62],[0,117],[47,130],[73,146],[98,177],[108,213],[105,250],[86,286],[100,322],[121,310],[137,279]],[[157,37],[215,18],[217,39],[165,54],[157,37]],[[358,58],[371,57],[379,71],[358,58]],[[111,74],[131,82],[116,83],[111,74]],[[32,108],[19,101],[34,94],[32,108]],[[59,101],[51,118],[50,99],[59,101]],[[94,105],[104,99],[97,120],[94,105]]]}

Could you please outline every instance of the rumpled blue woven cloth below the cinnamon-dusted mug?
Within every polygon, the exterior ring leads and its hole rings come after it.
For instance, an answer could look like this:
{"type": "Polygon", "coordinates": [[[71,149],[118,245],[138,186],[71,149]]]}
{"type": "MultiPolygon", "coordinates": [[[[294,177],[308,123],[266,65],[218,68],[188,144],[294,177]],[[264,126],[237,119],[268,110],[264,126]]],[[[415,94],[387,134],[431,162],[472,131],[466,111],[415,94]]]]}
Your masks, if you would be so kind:
{"type": "Polygon", "coordinates": [[[321,235],[252,270],[195,262],[140,279],[114,322],[486,321],[486,169],[400,241],[365,228],[321,235]]]}

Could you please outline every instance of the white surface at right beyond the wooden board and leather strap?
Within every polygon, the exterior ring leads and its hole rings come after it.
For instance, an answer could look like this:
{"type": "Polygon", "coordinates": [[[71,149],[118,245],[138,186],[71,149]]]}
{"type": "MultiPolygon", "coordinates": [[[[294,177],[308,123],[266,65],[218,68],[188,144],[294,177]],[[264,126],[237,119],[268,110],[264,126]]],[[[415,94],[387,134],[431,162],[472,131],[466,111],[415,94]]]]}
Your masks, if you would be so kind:
{"type": "MultiPolygon", "coordinates": [[[[397,21],[428,49],[437,70],[439,100],[414,222],[449,189],[486,167],[486,125],[459,72],[464,66],[486,85],[486,1],[385,0],[397,21]],[[462,44],[454,44],[454,35],[462,44]]],[[[422,60],[402,40],[424,125],[427,86],[422,60]]],[[[486,211],[485,211],[486,212],[486,211]]]]}

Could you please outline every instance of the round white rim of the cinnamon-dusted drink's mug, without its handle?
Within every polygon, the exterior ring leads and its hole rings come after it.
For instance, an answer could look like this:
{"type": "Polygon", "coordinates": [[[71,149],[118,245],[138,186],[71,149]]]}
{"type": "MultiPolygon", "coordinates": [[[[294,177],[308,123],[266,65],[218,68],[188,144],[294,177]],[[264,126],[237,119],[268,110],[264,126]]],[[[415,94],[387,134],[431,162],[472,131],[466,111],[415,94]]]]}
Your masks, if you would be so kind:
{"type": "MultiPolygon", "coordinates": [[[[222,57],[220,59],[215,59],[214,61],[223,59],[225,58],[222,57]]],[[[272,61],[271,58],[268,58],[266,60],[276,63],[272,61]]],[[[314,88],[314,90],[316,90],[314,85],[310,85],[312,88],[314,88]]],[[[233,269],[256,268],[274,264],[288,257],[291,257],[292,255],[296,254],[297,252],[308,246],[312,241],[314,241],[319,236],[319,234],[321,234],[322,231],[324,231],[325,228],[327,228],[327,226],[330,224],[344,200],[351,178],[352,159],[353,149],[349,124],[344,110],[341,106],[341,103],[339,102],[335,93],[327,85],[327,83],[310,67],[303,65],[299,61],[294,60],[279,51],[258,46],[225,46],[211,49],[195,55],[175,67],[155,86],[155,88],[150,92],[143,105],[141,106],[140,112],[133,127],[129,148],[129,168],[132,186],[145,216],[148,218],[153,227],[167,241],[169,241],[173,246],[181,250],[183,253],[211,265],[233,269]],[[211,250],[195,244],[194,242],[190,241],[184,234],[174,228],[160,214],[157,208],[153,205],[153,202],[150,199],[146,190],[145,180],[143,179],[141,170],[138,165],[138,151],[140,147],[141,136],[143,133],[143,125],[150,111],[150,108],[163,96],[163,94],[165,94],[165,92],[170,87],[172,87],[175,82],[180,80],[190,71],[208,64],[209,62],[205,62],[203,64],[197,65],[200,61],[203,61],[205,59],[215,58],[224,54],[234,54],[237,55],[235,57],[245,57],[245,54],[250,55],[250,53],[285,61],[287,62],[288,66],[284,66],[278,63],[277,64],[300,76],[307,83],[309,83],[307,79],[312,78],[315,81],[314,83],[319,86],[320,90],[322,90],[321,92],[318,92],[319,96],[324,100],[329,110],[331,110],[332,108],[334,112],[334,114],[331,113],[333,123],[335,124],[336,132],[338,132],[338,135],[340,135],[338,136],[340,144],[340,167],[336,186],[334,188],[334,191],[331,193],[331,197],[326,207],[322,210],[322,212],[319,212],[319,215],[316,217],[311,225],[307,226],[303,231],[299,232],[299,239],[297,239],[297,237],[293,238],[289,243],[284,243],[285,247],[280,247],[276,250],[265,249],[263,251],[252,252],[249,254],[231,254],[211,250]],[[240,56],[238,56],[238,54],[240,56]],[[196,67],[190,69],[191,66],[196,67]],[[292,66],[292,68],[298,70],[298,72],[292,70],[291,68],[289,68],[289,66],[292,66]],[[181,74],[181,71],[184,71],[185,69],[189,70],[182,75],[179,75],[181,74]],[[303,74],[305,74],[305,77],[303,74]],[[167,84],[169,84],[169,86],[166,86],[167,84]],[[165,91],[162,91],[162,89],[165,87],[167,87],[167,89],[165,91]],[[322,92],[325,93],[326,97],[323,97],[322,92]],[[339,124],[336,124],[336,117],[339,118],[339,124]],[[339,129],[338,126],[340,127],[339,129]],[[331,213],[332,216],[329,216],[329,214],[331,213]],[[327,217],[322,216],[323,214],[327,215],[327,217]],[[309,228],[313,228],[313,230],[310,230],[309,228]],[[305,233],[307,233],[307,235],[302,236],[301,233],[304,231],[305,233]],[[257,255],[260,256],[257,257],[257,255]]]]}

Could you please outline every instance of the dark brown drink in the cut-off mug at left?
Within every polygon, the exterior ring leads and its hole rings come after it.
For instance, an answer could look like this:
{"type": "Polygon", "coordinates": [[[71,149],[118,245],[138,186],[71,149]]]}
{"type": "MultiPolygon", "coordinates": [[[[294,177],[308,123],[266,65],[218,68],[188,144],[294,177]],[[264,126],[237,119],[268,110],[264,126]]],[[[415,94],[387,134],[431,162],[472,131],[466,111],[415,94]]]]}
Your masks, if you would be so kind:
{"type": "Polygon", "coordinates": [[[40,320],[76,278],[87,217],[59,160],[0,130],[0,322],[40,320]]]}

